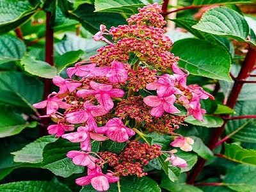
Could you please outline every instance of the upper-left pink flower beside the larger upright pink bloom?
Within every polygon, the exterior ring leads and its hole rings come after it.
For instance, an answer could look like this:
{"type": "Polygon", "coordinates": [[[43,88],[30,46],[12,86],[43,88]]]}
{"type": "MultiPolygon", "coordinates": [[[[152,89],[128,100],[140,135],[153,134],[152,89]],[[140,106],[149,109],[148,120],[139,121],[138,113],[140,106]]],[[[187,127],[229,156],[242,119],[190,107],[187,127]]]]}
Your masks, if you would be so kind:
{"type": "Polygon", "coordinates": [[[86,62],[76,63],[75,67],[67,68],[68,77],[71,78],[74,74],[79,77],[92,76],[91,71],[95,68],[96,64],[81,65],[86,62]]]}

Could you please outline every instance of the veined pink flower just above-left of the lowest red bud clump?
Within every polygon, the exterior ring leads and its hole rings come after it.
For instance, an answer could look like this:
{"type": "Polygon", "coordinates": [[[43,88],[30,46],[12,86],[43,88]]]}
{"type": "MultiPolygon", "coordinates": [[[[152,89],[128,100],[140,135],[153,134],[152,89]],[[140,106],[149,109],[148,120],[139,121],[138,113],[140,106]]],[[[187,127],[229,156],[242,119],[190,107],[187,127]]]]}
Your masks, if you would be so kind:
{"type": "Polygon", "coordinates": [[[133,136],[135,132],[128,127],[125,127],[120,118],[112,118],[105,126],[96,127],[95,132],[99,134],[106,134],[109,139],[122,143],[129,139],[129,136],[133,136]]]}

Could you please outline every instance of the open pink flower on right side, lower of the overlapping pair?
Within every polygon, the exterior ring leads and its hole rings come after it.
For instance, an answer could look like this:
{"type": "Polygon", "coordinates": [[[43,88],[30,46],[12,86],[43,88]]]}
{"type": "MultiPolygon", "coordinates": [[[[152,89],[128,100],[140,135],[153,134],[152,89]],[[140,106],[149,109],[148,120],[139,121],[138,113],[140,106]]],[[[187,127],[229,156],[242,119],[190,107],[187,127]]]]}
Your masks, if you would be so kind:
{"type": "Polygon", "coordinates": [[[180,110],[173,105],[175,100],[175,95],[170,95],[168,97],[149,95],[143,99],[147,106],[152,107],[150,114],[157,117],[162,116],[164,111],[167,113],[180,113],[180,110]]]}

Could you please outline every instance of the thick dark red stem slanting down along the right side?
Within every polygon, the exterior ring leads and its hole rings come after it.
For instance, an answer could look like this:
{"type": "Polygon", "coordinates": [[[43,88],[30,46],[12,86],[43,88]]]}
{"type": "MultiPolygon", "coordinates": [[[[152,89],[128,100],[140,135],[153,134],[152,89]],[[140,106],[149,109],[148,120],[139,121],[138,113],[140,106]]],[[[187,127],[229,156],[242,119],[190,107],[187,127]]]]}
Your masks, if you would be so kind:
{"type": "MultiPolygon", "coordinates": [[[[246,79],[246,77],[248,77],[248,74],[252,71],[255,64],[256,64],[256,47],[250,46],[248,53],[246,54],[244,63],[241,67],[241,70],[240,70],[237,78],[234,79],[235,83],[233,85],[233,88],[232,88],[230,95],[228,97],[228,100],[227,100],[227,106],[229,108],[234,109],[236,102],[237,102],[237,98],[238,98],[239,93],[241,92],[243,84],[244,84],[243,81],[246,79]]],[[[213,150],[216,147],[216,144],[218,143],[218,140],[221,137],[221,134],[225,129],[225,125],[227,124],[227,121],[228,121],[225,118],[229,118],[229,117],[230,117],[230,115],[225,115],[223,125],[221,127],[217,127],[214,130],[214,132],[209,140],[209,143],[208,143],[208,147],[211,150],[213,150]]],[[[199,173],[204,168],[205,163],[206,163],[205,159],[202,159],[202,158],[198,159],[198,162],[195,164],[195,168],[188,175],[188,180],[187,180],[188,184],[193,184],[195,182],[196,177],[199,175],[199,173]]]]}

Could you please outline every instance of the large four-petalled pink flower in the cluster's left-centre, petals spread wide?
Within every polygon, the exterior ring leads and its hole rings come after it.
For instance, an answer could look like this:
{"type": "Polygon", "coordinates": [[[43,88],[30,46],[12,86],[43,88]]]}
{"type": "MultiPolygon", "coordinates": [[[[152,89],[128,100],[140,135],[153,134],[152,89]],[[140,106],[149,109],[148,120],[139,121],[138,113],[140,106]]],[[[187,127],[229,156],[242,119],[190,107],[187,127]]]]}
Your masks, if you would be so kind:
{"type": "Polygon", "coordinates": [[[104,107],[106,111],[110,111],[114,107],[113,97],[123,97],[124,91],[113,88],[111,84],[101,84],[90,82],[93,90],[78,90],[76,95],[78,97],[94,96],[98,102],[104,107]]]}

